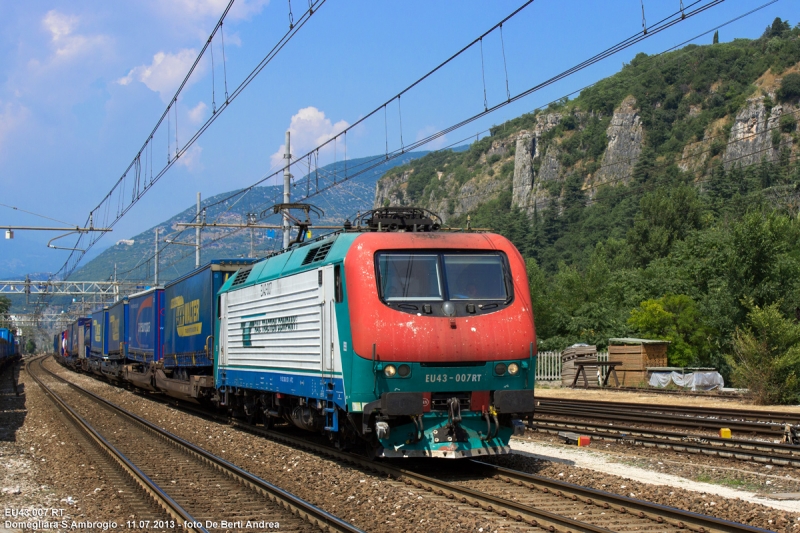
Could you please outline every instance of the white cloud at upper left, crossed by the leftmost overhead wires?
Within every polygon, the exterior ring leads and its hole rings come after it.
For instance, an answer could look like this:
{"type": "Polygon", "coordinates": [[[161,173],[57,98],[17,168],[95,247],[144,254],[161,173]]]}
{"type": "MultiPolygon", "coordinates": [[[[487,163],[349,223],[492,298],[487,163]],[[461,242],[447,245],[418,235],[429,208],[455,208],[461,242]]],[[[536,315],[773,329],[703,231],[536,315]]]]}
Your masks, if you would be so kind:
{"type": "MultiPolygon", "coordinates": [[[[134,67],[127,76],[118,79],[117,83],[128,85],[134,80],[140,81],[151,91],[160,94],[162,100],[169,102],[196,58],[197,50],[194,49],[184,48],[177,54],[158,52],[153,56],[152,63],[134,67]]],[[[192,79],[198,79],[202,75],[203,65],[203,61],[197,65],[192,79]]]]}

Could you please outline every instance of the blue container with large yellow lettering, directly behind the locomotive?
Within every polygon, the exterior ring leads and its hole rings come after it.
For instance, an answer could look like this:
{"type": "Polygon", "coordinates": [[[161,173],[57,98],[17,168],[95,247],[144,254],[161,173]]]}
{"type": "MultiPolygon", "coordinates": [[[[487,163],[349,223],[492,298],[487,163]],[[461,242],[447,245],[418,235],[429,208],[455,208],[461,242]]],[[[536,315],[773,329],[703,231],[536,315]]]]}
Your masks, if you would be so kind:
{"type": "Polygon", "coordinates": [[[214,364],[217,291],[239,268],[255,259],[215,259],[164,288],[164,366],[214,364]]]}

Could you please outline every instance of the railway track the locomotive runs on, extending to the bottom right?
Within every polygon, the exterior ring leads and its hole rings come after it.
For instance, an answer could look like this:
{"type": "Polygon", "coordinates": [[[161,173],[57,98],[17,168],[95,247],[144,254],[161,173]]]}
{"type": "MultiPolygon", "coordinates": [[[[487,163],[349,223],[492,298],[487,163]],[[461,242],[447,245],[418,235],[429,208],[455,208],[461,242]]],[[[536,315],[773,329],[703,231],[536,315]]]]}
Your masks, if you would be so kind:
{"type": "Polygon", "coordinates": [[[399,468],[397,463],[369,461],[361,456],[331,449],[305,439],[265,430],[237,420],[234,427],[331,457],[358,468],[377,472],[408,486],[436,494],[506,520],[551,532],[648,531],[652,533],[696,531],[704,533],[755,532],[760,528],[699,515],[613,493],[580,487],[534,474],[496,467],[479,461],[450,464],[430,472],[429,462],[418,468],[399,468]],[[426,474],[420,471],[426,471],[426,474]],[[459,471],[455,474],[455,471],[459,471]],[[432,475],[431,475],[432,474],[432,475]]]}

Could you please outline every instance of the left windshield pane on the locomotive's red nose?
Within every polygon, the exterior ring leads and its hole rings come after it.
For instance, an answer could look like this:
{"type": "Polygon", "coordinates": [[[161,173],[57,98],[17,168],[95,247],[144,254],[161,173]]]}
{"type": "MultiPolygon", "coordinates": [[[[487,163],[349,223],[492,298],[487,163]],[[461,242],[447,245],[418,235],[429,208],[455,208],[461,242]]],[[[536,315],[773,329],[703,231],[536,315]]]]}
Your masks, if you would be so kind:
{"type": "Polygon", "coordinates": [[[382,253],[377,261],[378,286],[385,301],[442,299],[437,254],[382,253]]]}

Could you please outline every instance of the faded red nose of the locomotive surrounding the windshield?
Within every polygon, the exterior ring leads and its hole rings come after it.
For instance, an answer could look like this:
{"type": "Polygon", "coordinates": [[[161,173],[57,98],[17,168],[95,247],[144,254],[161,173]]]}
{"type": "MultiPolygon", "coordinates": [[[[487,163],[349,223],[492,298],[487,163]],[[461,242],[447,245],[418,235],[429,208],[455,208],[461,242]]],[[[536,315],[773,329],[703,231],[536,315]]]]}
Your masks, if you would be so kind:
{"type": "MultiPolygon", "coordinates": [[[[376,254],[389,253],[380,233],[359,236],[345,257],[353,348],[369,359],[377,345],[381,360],[408,362],[468,362],[526,359],[535,338],[525,263],[516,248],[494,234],[395,233],[391,250],[419,252],[426,259],[436,253],[469,250],[502,254],[510,270],[511,294],[491,312],[478,309],[464,284],[464,294],[449,300],[387,305],[378,286],[376,254]],[[423,253],[425,252],[425,253],[423,253]],[[431,253],[427,253],[431,252],[431,253]],[[418,311],[418,312],[415,312],[418,311]]],[[[477,256],[479,257],[479,256],[477,256]]],[[[506,274],[509,275],[509,274],[506,274]]],[[[383,282],[386,284],[386,282],[383,282]]],[[[384,288],[384,294],[396,290],[384,288]]],[[[435,293],[435,291],[434,291],[435,293]]],[[[489,307],[489,306],[487,306],[489,307]]]]}

